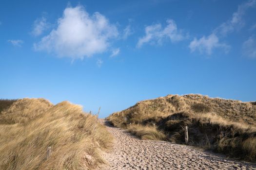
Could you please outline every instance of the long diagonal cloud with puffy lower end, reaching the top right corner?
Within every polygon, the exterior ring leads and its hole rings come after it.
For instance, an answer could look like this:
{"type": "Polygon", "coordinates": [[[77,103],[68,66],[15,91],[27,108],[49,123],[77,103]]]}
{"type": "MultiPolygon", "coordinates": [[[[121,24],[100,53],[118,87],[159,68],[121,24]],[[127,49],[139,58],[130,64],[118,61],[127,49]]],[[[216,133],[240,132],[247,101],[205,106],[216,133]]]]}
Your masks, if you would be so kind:
{"type": "Polygon", "coordinates": [[[246,10],[250,7],[254,7],[255,5],[256,0],[249,0],[239,5],[231,19],[220,24],[210,35],[203,35],[201,38],[194,38],[194,40],[189,44],[191,52],[198,50],[201,54],[206,53],[211,55],[215,48],[220,48],[225,52],[228,52],[230,46],[219,42],[219,38],[234,32],[234,30],[239,30],[244,25],[243,16],[245,15],[246,10]]]}

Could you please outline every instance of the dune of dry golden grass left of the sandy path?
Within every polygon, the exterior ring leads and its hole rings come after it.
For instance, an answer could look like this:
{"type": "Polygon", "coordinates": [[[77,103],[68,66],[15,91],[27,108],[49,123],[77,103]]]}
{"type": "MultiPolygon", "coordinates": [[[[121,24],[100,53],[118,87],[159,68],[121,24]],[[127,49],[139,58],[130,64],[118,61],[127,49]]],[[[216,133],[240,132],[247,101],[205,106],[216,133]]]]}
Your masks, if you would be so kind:
{"type": "Polygon", "coordinates": [[[0,170],[89,170],[112,136],[79,105],[22,99],[0,114],[0,170]],[[46,160],[47,146],[53,149],[46,160]]]}

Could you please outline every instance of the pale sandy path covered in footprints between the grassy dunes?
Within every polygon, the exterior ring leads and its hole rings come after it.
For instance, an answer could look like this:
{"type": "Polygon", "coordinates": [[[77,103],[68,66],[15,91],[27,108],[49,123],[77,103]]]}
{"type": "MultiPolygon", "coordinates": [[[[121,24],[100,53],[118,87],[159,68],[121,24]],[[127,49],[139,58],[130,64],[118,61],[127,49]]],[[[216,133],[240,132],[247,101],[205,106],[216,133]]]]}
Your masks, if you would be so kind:
{"type": "Polygon", "coordinates": [[[256,170],[256,164],[238,162],[213,153],[164,141],[140,140],[124,130],[107,125],[115,137],[112,153],[104,156],[101,170],[256,170]]]}

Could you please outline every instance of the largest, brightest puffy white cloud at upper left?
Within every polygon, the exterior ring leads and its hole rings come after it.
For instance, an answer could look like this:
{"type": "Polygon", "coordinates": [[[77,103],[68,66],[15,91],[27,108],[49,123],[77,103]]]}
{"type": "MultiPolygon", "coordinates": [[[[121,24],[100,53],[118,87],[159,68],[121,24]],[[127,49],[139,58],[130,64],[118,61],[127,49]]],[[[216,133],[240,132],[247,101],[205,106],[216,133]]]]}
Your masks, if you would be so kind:
{"type": "Polygon", "coordinates": [[[115,25],[98,12],[90,16],[82,6],[67,7],[58,19],[58,28],[34,44],[36,51],[59,57],[83,59],[107,50],[110,39],[118,36],[115,25]]]}

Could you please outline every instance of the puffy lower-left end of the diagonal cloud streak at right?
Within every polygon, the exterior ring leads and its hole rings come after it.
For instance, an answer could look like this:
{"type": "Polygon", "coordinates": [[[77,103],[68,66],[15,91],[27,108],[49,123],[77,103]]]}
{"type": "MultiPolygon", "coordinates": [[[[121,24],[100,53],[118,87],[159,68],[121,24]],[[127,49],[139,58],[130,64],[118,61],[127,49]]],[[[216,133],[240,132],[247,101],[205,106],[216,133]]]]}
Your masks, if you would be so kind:
{"type": "Polygon", "coordinates": [[[191,52],[198,50],[201,54],[206,53],[207,55],[211,55],[214,48],[221,48],[227,52],[230,46],[225,43],[219,43],[218,37],[215,34],[210,34],[200,39],[194,38],[194,40],[190,42],[189,48],[191,52]]]}

